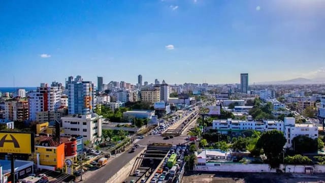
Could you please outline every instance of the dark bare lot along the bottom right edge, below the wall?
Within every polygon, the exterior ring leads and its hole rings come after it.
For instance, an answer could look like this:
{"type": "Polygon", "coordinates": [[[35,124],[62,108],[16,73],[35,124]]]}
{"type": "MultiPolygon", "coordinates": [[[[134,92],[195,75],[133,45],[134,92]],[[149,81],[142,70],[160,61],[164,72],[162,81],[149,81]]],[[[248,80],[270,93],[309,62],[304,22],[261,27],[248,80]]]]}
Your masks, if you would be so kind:
{"type": "Polygon", "coordinates": [[[218,172],[186,174],[182,183],[325,183],[325,174],[275,174],[218,172]]]}

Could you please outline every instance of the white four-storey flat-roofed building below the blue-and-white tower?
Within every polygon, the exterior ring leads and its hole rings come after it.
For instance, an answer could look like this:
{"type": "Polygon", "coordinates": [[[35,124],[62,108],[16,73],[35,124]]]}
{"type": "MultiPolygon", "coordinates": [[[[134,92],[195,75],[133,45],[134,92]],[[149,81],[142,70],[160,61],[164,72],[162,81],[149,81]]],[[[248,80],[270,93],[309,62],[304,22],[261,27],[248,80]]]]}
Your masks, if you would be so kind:
{"type": "Polygon", "coordinates": [[[102,141],[102,118],[96,113],[61,117],[64,135],[80,135],[83,142],[89,140],[92,145],[98,145],[102,141]]]}

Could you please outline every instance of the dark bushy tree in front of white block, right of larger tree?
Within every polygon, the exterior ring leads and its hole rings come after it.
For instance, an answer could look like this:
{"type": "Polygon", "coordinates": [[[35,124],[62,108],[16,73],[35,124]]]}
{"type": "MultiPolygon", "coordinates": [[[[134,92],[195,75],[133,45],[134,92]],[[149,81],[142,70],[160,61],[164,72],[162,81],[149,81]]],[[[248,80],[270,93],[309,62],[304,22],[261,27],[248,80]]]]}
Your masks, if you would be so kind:
{"type": "Polygon", "coordinates": [[[318,148],[317,141],[318,139],[299,135],[293,139],[292,145],[296,154],[314,153],[318,148]]]}

